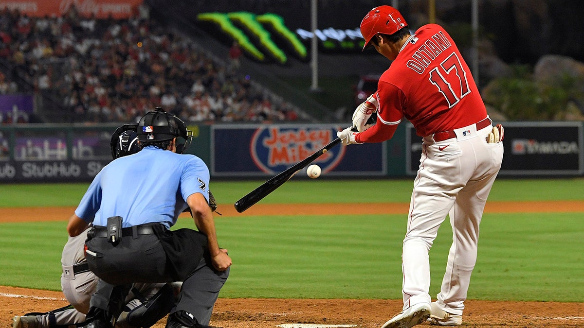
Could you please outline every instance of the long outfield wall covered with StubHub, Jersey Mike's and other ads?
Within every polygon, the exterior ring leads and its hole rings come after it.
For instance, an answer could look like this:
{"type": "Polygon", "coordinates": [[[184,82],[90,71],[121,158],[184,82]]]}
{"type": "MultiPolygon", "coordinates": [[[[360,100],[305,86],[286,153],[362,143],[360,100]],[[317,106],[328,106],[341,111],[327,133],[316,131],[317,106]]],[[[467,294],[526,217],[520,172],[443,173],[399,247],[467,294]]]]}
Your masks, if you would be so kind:
{"type": "MultiPolygon", "coordinates": [[[[507,122],[500,176],[583,176],[584,123],[507,122]]],[[[0,182],[90,182],[112,160],[116,125],[0,127],[0,182]]],[[[341,124],[192,125],[188,153],[219,179],[269,179],[336,138],[341,124]]],[[[339,178],[416,174],[421,138],[409,123],[380,144],[335,146],[314,163],[339,178]]],[[[307,179],[304,174],[298,178],[307,179]]]]}

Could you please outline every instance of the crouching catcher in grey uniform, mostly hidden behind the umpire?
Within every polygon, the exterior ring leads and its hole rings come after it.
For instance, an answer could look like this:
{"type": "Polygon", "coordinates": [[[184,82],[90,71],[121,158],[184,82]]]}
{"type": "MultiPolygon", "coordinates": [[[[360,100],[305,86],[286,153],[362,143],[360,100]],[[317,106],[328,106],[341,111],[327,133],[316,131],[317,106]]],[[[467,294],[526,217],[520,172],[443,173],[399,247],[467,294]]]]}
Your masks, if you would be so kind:
{"type": "MultiPolygon", "coordinates": [[[[140,150],[135,128],[136,124],[124,124],[113,133],[110,146],[114,159],[140,150]]],[[[61,288],[71,305],[46,313],[15,316],[13,328],[58,328],[85,322],[89,299],[98,284],[98,277],[89,271],[83,252],[88,230],[75,237],[69,236],[61,254],[61,288]]],[[[134,284],[124,301],[126,306],[117,326],[152,326],[169,313],[179,289],[180,283],[134,284]]]]}

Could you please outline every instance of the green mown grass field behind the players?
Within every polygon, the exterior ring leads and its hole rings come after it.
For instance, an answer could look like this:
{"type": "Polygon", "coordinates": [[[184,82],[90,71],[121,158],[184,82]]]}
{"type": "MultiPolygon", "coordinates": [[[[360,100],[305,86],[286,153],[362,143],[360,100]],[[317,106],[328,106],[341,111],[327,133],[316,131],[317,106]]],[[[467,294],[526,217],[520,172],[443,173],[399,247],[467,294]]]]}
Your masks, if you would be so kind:
{"type": "MultiPolygon", "coordinates": [[[[324,179],[323,179],[324,178],[324,179]]],[[[213,182],[220,208],[263,181],[213,182]]],[[[0,207],[75,206],[88,184],[5,184],[0,207]],[[31,205],[33,204],[33,205],[31,205]]],[[[407,202],[411,180],[291,180],[262,203],[407,202]],[[367,191],[370,191],[369,193],[367,191]]],[[[584,201],[584,179],[499,179],[490,201],[584,201]]],[[[0,285],[60,290],[62,222],[0,224],[0,285]]],[[[234,261],[223,298],[401,299],[405,215],[216,217],[234,261]]],[[[180,219],[176,228],[193,227],[180,219]]],[[[486,213],[470,299],[584,302],[584,213],[486,213]]],[[[430,261],[435,296],[451,241],[430,261]]]]}

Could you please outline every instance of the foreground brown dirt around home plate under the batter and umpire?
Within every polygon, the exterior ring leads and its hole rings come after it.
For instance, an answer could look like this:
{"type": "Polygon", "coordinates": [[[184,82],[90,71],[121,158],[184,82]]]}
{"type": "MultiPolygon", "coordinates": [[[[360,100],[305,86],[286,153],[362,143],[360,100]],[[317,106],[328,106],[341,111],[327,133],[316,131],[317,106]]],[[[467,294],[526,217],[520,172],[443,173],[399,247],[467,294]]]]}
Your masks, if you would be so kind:
{"type": "MultiPolygon", "coordinates": [[[[1,327],[26,312],[67,305],[61,292],[0,287],[1,327]]],[[[584,303],[466,302],[467,327],[583,327],[584,303]]],[[[401,301],[380,299],[218,299],[211,325],[225,328],[275,328],[281,324],[380,327],[401,308],[401,301]]],[[[154,327],[163,328],[166,320],[154,327]]],[[[420,325],[427,326],[427,324],[420,325]]],[[[289,326],[288,326],[289,327],[289,326]]],[[[305,327],[305,326],[304,326],[305,327]]],[[[322,326],[321,326],[322,327],[322,326]]]]}

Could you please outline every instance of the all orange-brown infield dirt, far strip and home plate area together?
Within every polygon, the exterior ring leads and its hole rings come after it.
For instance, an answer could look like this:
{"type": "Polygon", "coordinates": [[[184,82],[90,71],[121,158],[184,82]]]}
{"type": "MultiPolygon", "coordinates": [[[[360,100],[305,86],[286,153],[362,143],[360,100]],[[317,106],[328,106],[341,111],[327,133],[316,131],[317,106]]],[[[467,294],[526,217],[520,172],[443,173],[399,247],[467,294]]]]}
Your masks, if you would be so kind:
{"type": "MultiPolygon", "coordinates": [[[[223,217],[293,214],[406,213],[408,204],[257,204],[237,213],[231,204],[219,205],[223,217]],[[326,212],[325,212],[326,211],[326,212]],[[364,212],[366,211],[366,212],[364,212]]],[[[74,208],[1,208],[0,222],[63,221],[74,208]]],[[[485,212],[584,212],[584,201],[490,202],[485,212]]],[[[61,292],[0,286],[2,327],[11,327],[15,315],[44,312],[67,304],[61,292]]],[[[379,299],[218,299],[211,325],[225,328],[282,327],[379,327],[401,309],[401,300],[379,299]],[[284,326],[285,325],[285,326],[284,326]]],[[[467,327],[584,327],[584,303],[465,302],[463,326],[467,327]]],[[[165,320],[154,327],[163,328],[165,320]]],[[[420,325],[427,326],[427,323],[420,325]]]]}

